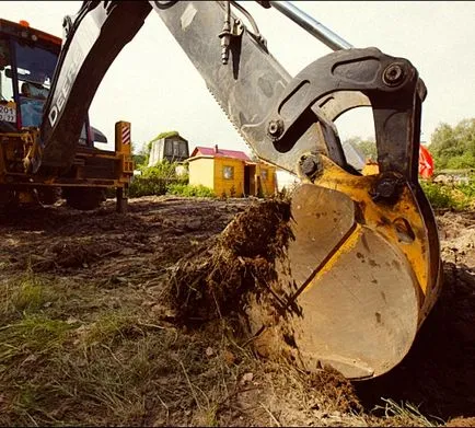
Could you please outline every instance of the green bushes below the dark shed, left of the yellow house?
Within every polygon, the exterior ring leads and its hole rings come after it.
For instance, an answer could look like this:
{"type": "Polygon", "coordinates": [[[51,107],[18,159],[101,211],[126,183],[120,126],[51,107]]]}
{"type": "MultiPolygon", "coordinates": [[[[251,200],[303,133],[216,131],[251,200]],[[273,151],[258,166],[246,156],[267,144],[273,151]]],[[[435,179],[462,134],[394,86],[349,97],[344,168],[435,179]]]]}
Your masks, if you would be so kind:
{"type": "Polygon", "coordinates": [[[135,176],[129,186],[129,197],[138,198],[141,196],[165,195],[167,188],[172,184],[186,185],[188,183],[187,175],[177,175],[176,162],[163,161],[155,166],[140,167],[141,175],[135,176]]]}

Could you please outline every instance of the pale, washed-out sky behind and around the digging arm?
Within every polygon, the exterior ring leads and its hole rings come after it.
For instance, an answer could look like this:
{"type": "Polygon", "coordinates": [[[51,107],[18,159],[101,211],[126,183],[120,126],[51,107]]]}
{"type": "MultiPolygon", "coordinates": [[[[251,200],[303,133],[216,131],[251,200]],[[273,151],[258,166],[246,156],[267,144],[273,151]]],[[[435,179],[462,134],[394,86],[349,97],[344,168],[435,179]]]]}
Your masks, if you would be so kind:
{"type": "MultiPolygon", "coordinates": [[[[274,57],[296,76],[331,49],[275,9],[240,1],[256,20],[274,57]]],[[[292,1],[355,47],[378,47],[407,58],[426,83],[421,140],[438,125],[475,117],[475,2],[472,1],[292,1]]],[[[2,1],[0,18],[62,36],[62,18],[81,1],[2,1]]],[[[220,49],[219,42],[217,49],[220,49]]],[[[193,63],[151,12],[101,83],[90,108],[91,124],[114,141],[114,124],[131,123],[136,151],[158,134],[177,130],[195,146],[250,149],[206,89],[193,63]]],[[[336,122],[341,140],[373,137],[370,108],[336,122]]]]}

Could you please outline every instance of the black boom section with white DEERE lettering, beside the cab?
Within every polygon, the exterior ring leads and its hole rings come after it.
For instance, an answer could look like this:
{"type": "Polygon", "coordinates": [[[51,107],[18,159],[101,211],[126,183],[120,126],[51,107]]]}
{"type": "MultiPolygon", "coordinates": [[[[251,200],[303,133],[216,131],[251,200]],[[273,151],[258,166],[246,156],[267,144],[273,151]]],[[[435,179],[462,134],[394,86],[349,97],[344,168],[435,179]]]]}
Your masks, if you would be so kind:
{"type": "Polygon", "coordinates": [[[32,159],[33,171],[71,165],[101,81],[150,11],[147,1],[84,1],[74,16],[65,18],[66,37],[40,126],[43,150],[32,159]]]}

